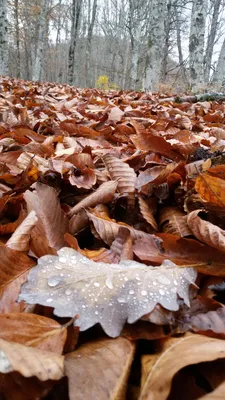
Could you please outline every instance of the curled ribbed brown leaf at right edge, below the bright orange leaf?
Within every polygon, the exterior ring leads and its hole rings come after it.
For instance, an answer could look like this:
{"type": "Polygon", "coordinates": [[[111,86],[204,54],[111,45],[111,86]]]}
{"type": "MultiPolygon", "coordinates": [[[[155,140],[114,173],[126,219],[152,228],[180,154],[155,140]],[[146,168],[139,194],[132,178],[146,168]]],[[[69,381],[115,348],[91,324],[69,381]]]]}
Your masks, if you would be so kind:
{"type": "Polygon", "coordinates": [[[192,211],[187,216],[187,223],[195,237],[211,247],[225,252],[225,231],[211,222],[199,217],[202,210],[192,211]]]}

